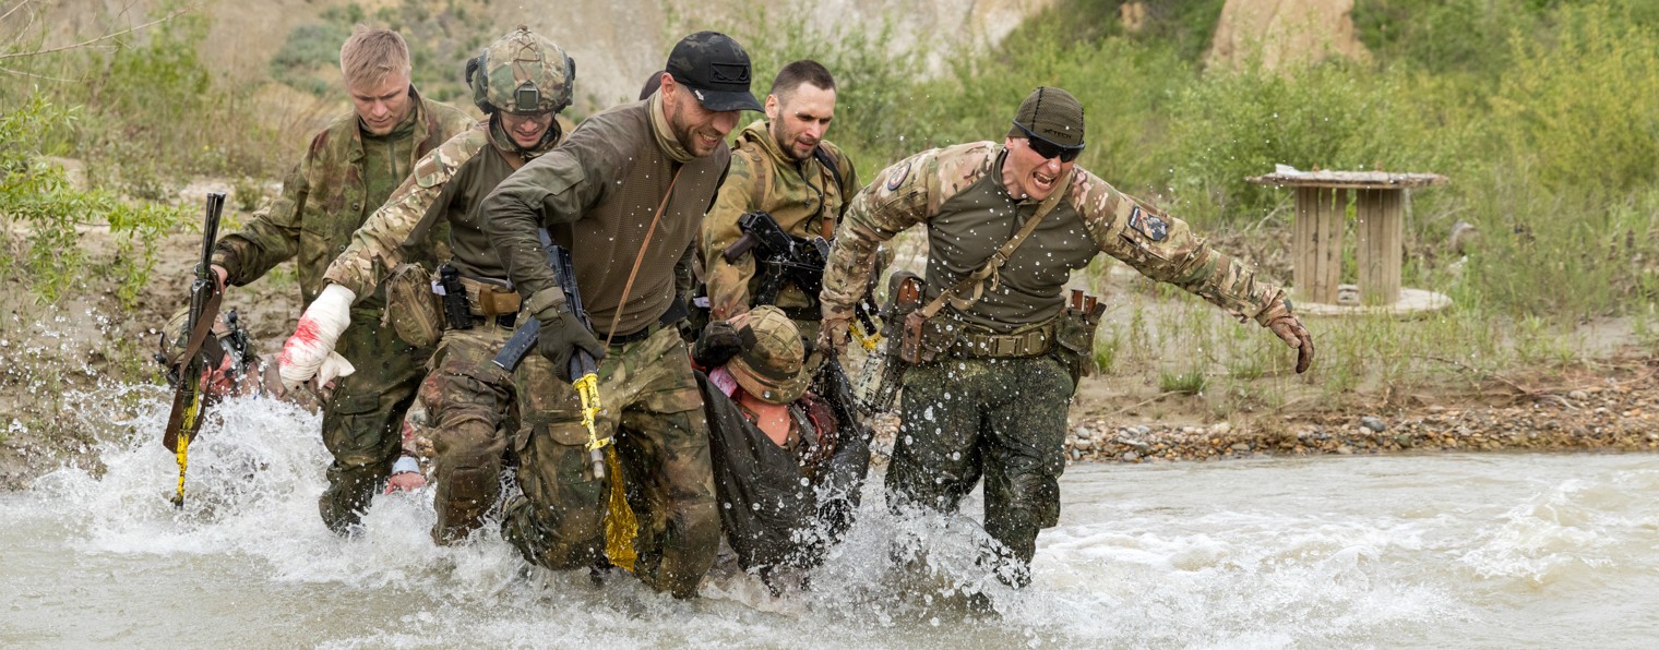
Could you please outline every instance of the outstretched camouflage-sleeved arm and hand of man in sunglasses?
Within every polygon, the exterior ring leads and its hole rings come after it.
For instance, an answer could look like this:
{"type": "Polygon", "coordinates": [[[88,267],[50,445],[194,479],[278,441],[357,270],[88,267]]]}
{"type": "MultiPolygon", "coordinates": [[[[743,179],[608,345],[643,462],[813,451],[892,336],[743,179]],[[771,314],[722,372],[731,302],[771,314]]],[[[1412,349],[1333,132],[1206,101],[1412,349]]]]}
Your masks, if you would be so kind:
{"type": "Polygon", "coordinates": [[[1072,174],[1068,201],[1102,252],[1221,307],[1239,322],[1254,320],[1272,330],[1297,348],[1296,371],[1307,370],[1314,342],[1291,315],[1282,289],[1258,279],[1254,265],[1209,247],[1185,221],[1118,192],[1083,167],[1073,167],[1072,174]]]}

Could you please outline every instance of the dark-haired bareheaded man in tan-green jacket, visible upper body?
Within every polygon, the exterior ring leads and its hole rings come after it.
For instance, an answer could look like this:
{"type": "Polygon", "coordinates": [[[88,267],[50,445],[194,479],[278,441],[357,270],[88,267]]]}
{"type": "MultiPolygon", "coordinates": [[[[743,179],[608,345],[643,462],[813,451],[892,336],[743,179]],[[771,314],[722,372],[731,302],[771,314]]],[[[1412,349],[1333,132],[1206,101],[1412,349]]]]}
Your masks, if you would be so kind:
{"type": "MultiPolygon", "coordinates": [[[[708,285],[708,318],[725,320],[757,307],[765,272],[755,254],[727,260],[723,252],[743,232],[738,217],[766,212],[795,237],[834,237],[834,227],[858,192],[858,169],[825,134],[834,119],[834,78],[811,60],[778,71],[766,95],[766,116],[743,128],[732,151],[732,172],[703,219],[702,260],[708,285]]],[[[818,297],[785,284],[771,303],[808,337],[818,335],[818,297]]]]}

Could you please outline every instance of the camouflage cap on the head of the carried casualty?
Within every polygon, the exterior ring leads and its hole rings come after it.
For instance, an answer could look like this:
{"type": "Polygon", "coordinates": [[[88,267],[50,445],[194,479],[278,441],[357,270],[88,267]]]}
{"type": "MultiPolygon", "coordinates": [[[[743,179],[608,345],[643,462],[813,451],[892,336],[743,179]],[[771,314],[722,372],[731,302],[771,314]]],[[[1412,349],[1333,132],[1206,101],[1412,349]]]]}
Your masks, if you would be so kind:
{"type": "Polygon", "coordinates": [[[806,391],[806,345],[795,322],[783,310],[761,305],[732,317],[730,323],[745,342],[743,352],[727,361],[737,385],[775,405],[800,400],[806,391]]]}

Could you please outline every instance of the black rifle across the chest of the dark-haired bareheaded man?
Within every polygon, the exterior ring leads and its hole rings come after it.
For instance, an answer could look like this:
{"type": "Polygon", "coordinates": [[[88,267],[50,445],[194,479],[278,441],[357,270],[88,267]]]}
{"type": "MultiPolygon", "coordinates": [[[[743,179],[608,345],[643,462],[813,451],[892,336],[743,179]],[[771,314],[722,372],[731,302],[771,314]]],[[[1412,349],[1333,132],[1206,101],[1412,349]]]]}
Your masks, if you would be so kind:
{"type": "MultiPolygon", "coordinates": [[[[755,292],[757,305],[775,303],[785,280],[793,282],[801,292],[815,298],[825,289],[830,242],[823,237],[795,237],[785,232],[771,214],[761,211],[737,217],[737,227],[743,230],[743,237],[732,242],[730,247],[720,252],[720,257],[727,264],[732,264],[738,257],[743,257],[743,254],[755,252],[755,264],[765,269],[760,289],[755,292]]],[[[853,307],[853,313],[858,315],[858,323],[863,327],[863,332],[854,327],[853,337],[858,338],[858,343],[866,352],[876,350],[876,343],[881,343],[881,327],[874,318],[878,313],[876,298],[864,295],[853,307]]]]}

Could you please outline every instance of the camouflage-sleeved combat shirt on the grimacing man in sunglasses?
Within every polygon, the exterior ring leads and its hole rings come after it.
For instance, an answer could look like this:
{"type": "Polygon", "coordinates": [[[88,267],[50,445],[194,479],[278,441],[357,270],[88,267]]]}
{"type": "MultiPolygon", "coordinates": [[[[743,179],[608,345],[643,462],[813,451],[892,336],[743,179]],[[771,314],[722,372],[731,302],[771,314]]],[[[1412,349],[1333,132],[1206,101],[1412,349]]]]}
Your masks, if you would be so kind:
{"type": "MultiPolygon", "coordinates": [[[[1039,204],[1009,196],[1002,159],[1002,144],[971,143],[924,151],[881,171],[853,199],[838,230],[821,293],[825,318],[851,318],[876,245],[916,224],[927,224],[924,300],[984,267],[1039,204]]],[[[979,300],[941,313],[997,333],[1047,322],[1065,307],[1062,290],[1070,274],[1102,252],[1241,320],[1267,325],[1282,313],[1279,287],[1258,282],[1254,269],[1211,249],[1185,221],[1118,192],[1083,167],[1072,169],[1063,192],[1030,239],[985,280],[979,300]]]]}

